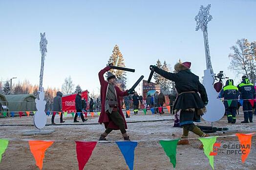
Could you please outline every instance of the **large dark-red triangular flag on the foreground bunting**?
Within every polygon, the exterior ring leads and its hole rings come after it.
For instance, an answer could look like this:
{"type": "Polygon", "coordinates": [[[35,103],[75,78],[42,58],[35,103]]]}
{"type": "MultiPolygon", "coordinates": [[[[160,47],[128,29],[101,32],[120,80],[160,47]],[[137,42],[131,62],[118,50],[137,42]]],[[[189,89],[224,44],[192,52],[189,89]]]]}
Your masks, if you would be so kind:
{"type": "Polygon", "coordinates": [[[76,154],[79,170],[84,170],[85,164],[91,157],[97,142],[76,141],[76,154]]]}

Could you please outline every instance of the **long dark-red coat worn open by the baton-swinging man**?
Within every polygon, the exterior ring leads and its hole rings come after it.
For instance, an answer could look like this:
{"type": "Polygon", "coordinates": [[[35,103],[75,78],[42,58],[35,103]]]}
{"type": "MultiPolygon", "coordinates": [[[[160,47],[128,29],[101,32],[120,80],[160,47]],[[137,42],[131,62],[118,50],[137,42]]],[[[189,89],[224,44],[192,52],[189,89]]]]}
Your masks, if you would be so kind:
{"type": "MultiPolygon", "coordinates": [[[[106,96],[107,96],[107,89],[108,89],[108,83],[104,79],[104,74],[109,71],[110,68],[107,66],[106,68],[103,68],[99,72],[99,79],[100,79],[100,84],[101,84],[101,114],[99,118],[99,123],[104,123],[105,128],[107,127],[114,129],[114,130],[119,130],[119,127],[111,120],[109,119],[107,113],[105,112],[105,101],[106,101],[106,96]]],[[[117,102],[118,102],[118,108],[120,110],[119,114],[123,117],[125,121],[125,127],[127,129],[127,123],[125,116],[122,112],[122,107],[121,107],[121,101],[120,97],[122,96],[128,96],[128,91],[122,91],[118,86],[115,86],[115,91],[116,91],[116,97],[117,97],[117,102]]]]}

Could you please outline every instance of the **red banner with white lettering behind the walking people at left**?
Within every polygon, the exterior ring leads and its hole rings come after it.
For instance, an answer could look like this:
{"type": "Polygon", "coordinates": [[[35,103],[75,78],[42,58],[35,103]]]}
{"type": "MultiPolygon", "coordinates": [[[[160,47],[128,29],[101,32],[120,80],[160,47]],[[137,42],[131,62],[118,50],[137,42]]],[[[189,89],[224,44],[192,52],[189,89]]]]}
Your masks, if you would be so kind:
{"type": "MultiPolygon", "coordinates": [[[[76,111],[76,93],[75,94],[71,94],[71,95],[67,95],[62,97],[62,110],[63,111],[71,111],[71,112],[75,112],[76,111]]],[[[83,91],[82,92],[82,100],[86,101],[87,107],[88,107],[88,91],[83,91]]]]}

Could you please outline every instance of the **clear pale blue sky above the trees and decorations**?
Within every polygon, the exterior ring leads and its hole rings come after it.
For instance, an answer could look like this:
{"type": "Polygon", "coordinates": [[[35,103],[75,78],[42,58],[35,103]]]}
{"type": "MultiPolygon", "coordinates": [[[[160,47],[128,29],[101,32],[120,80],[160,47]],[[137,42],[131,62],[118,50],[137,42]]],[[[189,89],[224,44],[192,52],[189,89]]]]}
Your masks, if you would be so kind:
{"type": "MultiPolygon", "coordinates": [[[[1,0],[0,79],[18,77],[39,84],[40,32],[48,53],[43,86],[59,87],[69,75],[74,84],[97,92],[98,72],[115,44],[125,57],[128,87],[149,65],[180,58],[200,77],[206,68],[203,34],[195,31],[200,5],[211,3],[208,24],[213,70],[228,70],[230,47],[240,38],[256,41],[256,0],[1,0]]],[[[238,81],[240,77],[236,78],[238,81]]]]}

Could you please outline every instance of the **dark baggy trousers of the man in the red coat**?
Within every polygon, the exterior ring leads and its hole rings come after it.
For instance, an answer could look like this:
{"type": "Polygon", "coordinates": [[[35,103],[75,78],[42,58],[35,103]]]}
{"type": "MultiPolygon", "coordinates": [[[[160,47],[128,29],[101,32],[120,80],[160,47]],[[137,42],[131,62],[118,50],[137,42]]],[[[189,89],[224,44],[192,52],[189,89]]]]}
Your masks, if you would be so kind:
{"type": "MultiPolygon", "coordinates": [[[[110,117],[110,119],[119,127],[120,131],[122,134],[126,133],[126,127],[125,127],[125,121],[123,119],[123,117],[119,114],[118,111],[112,111],[112,113],[107,113],[110,117]]],[[[113,129],[107,127],[106,129],[106,133],[109,134],[110,132],[112,132],[113,129]]]]}

